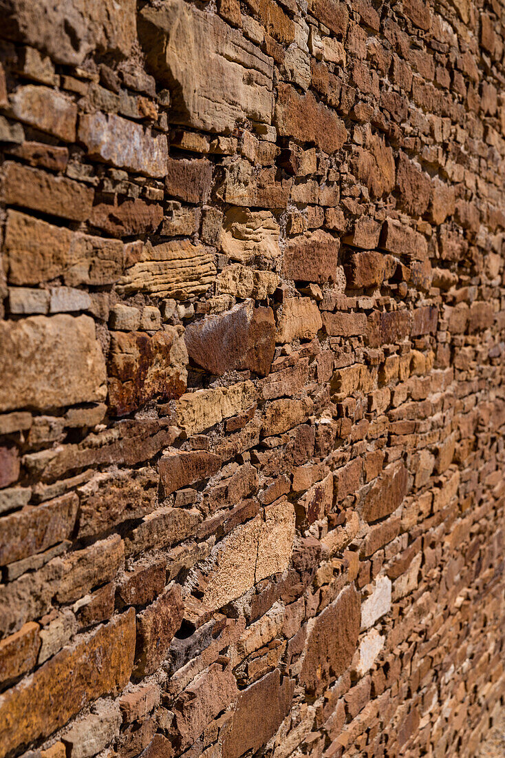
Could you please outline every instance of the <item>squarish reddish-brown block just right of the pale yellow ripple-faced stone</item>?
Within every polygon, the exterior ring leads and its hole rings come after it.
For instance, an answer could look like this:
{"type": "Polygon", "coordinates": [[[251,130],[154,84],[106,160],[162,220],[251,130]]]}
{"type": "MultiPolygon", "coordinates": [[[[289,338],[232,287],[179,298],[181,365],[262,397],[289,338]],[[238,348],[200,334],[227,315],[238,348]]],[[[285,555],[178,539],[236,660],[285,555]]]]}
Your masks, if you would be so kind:
{"type": "Polygon", "coordinates": [[[339,241],[319,229],[293,237],[284,251],[282,274],[286,279],[334,281],[339,249],[339,241]]]}

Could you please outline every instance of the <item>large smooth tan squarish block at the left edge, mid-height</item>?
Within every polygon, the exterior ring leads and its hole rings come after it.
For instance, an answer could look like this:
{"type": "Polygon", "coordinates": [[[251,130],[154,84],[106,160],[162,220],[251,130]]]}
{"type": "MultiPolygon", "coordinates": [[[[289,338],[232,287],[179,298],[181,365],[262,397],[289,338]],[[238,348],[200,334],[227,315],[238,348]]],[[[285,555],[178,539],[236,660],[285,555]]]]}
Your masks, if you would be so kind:
{"type": "Polygon", "coordinates": [[[105,362],[88,316],[0,324],[0,410],[39,410],[105,397],[105,362]]]}

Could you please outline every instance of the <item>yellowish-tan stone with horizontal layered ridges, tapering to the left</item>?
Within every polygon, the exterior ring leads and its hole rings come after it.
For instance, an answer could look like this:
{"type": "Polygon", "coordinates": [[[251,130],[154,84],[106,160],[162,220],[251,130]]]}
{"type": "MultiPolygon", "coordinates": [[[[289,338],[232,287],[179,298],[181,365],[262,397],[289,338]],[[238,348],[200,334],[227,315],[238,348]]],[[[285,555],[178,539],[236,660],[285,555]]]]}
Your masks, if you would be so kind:
{"type": "Polygon", "coordinates": [[[144,292],[186,300],[201,295],[214,282],[214,256],[189,240],[146,246],[142,261],[132,265],[119,281],[125,294],[144,292]]]}

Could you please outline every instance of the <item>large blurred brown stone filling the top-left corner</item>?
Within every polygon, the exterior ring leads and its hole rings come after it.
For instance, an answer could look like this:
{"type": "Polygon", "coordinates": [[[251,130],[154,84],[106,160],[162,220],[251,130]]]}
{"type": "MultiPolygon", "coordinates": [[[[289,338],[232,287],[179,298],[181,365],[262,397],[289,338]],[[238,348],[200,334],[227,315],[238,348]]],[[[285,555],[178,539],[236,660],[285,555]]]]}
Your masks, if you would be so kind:
{"type": "Polygon", "coordinates": [[[135,0],[5,0],[2,36],[78,66],[86,55],[129,55],[136,39],[135,0]]]}

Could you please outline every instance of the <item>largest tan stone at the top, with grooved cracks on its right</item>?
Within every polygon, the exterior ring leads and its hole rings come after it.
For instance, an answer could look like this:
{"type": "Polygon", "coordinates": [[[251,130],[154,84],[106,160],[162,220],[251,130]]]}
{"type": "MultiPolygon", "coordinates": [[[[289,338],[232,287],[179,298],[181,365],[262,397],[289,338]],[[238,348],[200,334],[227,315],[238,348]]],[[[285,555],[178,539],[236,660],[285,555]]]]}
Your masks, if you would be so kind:
{"type": "Polygon", "coordinates": [[[173,121],[197,129],[230,132],[244,117],[270,124],[273,62],[229,27],[170,0],[139,14],[147,64],[173,91],[173,121]]]}

